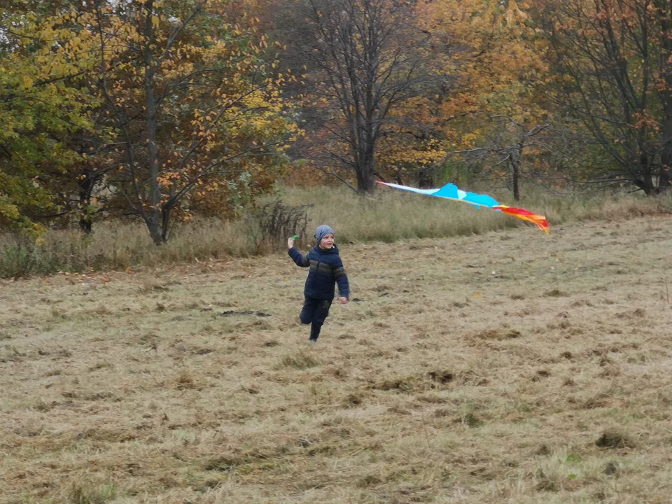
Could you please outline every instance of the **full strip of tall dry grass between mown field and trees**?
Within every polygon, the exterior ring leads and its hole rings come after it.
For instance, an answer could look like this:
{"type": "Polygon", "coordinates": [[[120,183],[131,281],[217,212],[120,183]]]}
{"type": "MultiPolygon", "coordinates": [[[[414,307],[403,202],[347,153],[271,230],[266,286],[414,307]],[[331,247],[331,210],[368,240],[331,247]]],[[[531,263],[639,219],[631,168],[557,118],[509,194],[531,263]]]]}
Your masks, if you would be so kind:
{"type": "MultiPolygon", "coordinates": [[[[513,204],[505,191],[492,194],[503,203],[513,204]]],[[[527,196],[519,206],[545,214],[552,228],[591,219],[614,221],[672,214],[672,197],[668,196],[552,197],[527,188],[524,194],[527,196]]],[[[381,189],[375,197],[360,198],[341,187],[279,188],[260,204],[278,198],[289,205],[311,205],[307,232],[296,230],[297,233],[310,236],[316,225],[330,223],[341,243],[479,235],[525,225],[487,209],[479,211],[466,204],[391,189],[381,189]]],[[[265,237],[258,221],[258,215],[248,211],[233,222],[212,219],[176,225],[169,242],[161,247],[153,245],[139,222],[96,223],[90,236],[76,230],[54,230],[43,235],[39,244],[0,234],[0,278],[248,258],[282,248],[285,239],[265,237]]]]}

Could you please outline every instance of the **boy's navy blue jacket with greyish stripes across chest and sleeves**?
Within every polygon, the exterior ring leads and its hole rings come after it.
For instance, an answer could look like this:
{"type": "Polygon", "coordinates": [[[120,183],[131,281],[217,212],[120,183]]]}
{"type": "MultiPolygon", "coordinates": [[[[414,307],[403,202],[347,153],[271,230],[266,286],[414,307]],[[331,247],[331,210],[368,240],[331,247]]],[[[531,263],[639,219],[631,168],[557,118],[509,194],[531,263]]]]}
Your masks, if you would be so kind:
{"type": "Polygon", "coordinates": [[[297,266],[309,267],[304,295],[318,300],[332,300],[335,284],[341,297],[350,297],[348,276],[345,274],[343,262],[338,255],[338,248],[332,246],[322,250],[315,246],[307,254],[302,254],[295,247],[289,249],[289,256],[297,266]]]}

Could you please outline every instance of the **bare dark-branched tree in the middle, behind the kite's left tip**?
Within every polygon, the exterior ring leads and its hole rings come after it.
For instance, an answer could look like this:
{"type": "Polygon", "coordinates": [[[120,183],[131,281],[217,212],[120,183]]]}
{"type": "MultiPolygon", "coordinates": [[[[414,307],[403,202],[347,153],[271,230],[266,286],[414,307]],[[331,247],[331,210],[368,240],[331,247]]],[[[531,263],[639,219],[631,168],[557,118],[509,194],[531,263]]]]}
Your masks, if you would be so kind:
{"type": "Polygon", "coordinates": [[[376,179],[379,139],[391,112],[426,92],[431,81],[428,36],[412,26],[400,0],[301,0],[295,38],[307,64],[314,131],[311,158],[358,193],[376,179]],[[355,175],[353,186],[345,173],[355,175]]]}

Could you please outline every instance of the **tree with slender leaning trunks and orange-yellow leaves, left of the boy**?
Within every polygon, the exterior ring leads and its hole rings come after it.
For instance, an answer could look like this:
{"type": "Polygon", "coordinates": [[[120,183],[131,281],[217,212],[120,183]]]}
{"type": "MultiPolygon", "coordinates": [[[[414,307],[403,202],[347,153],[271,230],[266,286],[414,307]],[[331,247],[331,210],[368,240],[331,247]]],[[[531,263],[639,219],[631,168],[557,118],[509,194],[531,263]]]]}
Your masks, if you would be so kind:
{"type": "Polygon", "coordinates": [[[227,6],[95,0],[79,20],[83,43],[95,45],[101,125],[118,134],[105,146],[118,165],[107,183],[155,244],[175,214],[235,211],[246,193],[267,190],[298,134],[281,97],[290,76],[265,60],[253,18],[228,25],[227,6]]]}

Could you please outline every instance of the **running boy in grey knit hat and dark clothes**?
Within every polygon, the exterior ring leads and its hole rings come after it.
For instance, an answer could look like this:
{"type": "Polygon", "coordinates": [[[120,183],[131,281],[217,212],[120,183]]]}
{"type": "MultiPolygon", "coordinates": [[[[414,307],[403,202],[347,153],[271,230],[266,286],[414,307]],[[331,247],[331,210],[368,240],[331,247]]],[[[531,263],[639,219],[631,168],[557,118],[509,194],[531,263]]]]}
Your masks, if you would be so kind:
{"type": "Polygon", "coordinates": [[[302,255],[294,248],[294,240],[288,239],[289,256],[297,266],[309,267],[303,294],[306,300],[299,318],[302,324],[311,324],[310,341],[316,342],[325,318],[334,300],[335,284],[338,283],[338,302],[346,304],[350,297],[348,276],[338,255],[334,230],[323,224],[315,231],[316,246],[302,255]]]}

